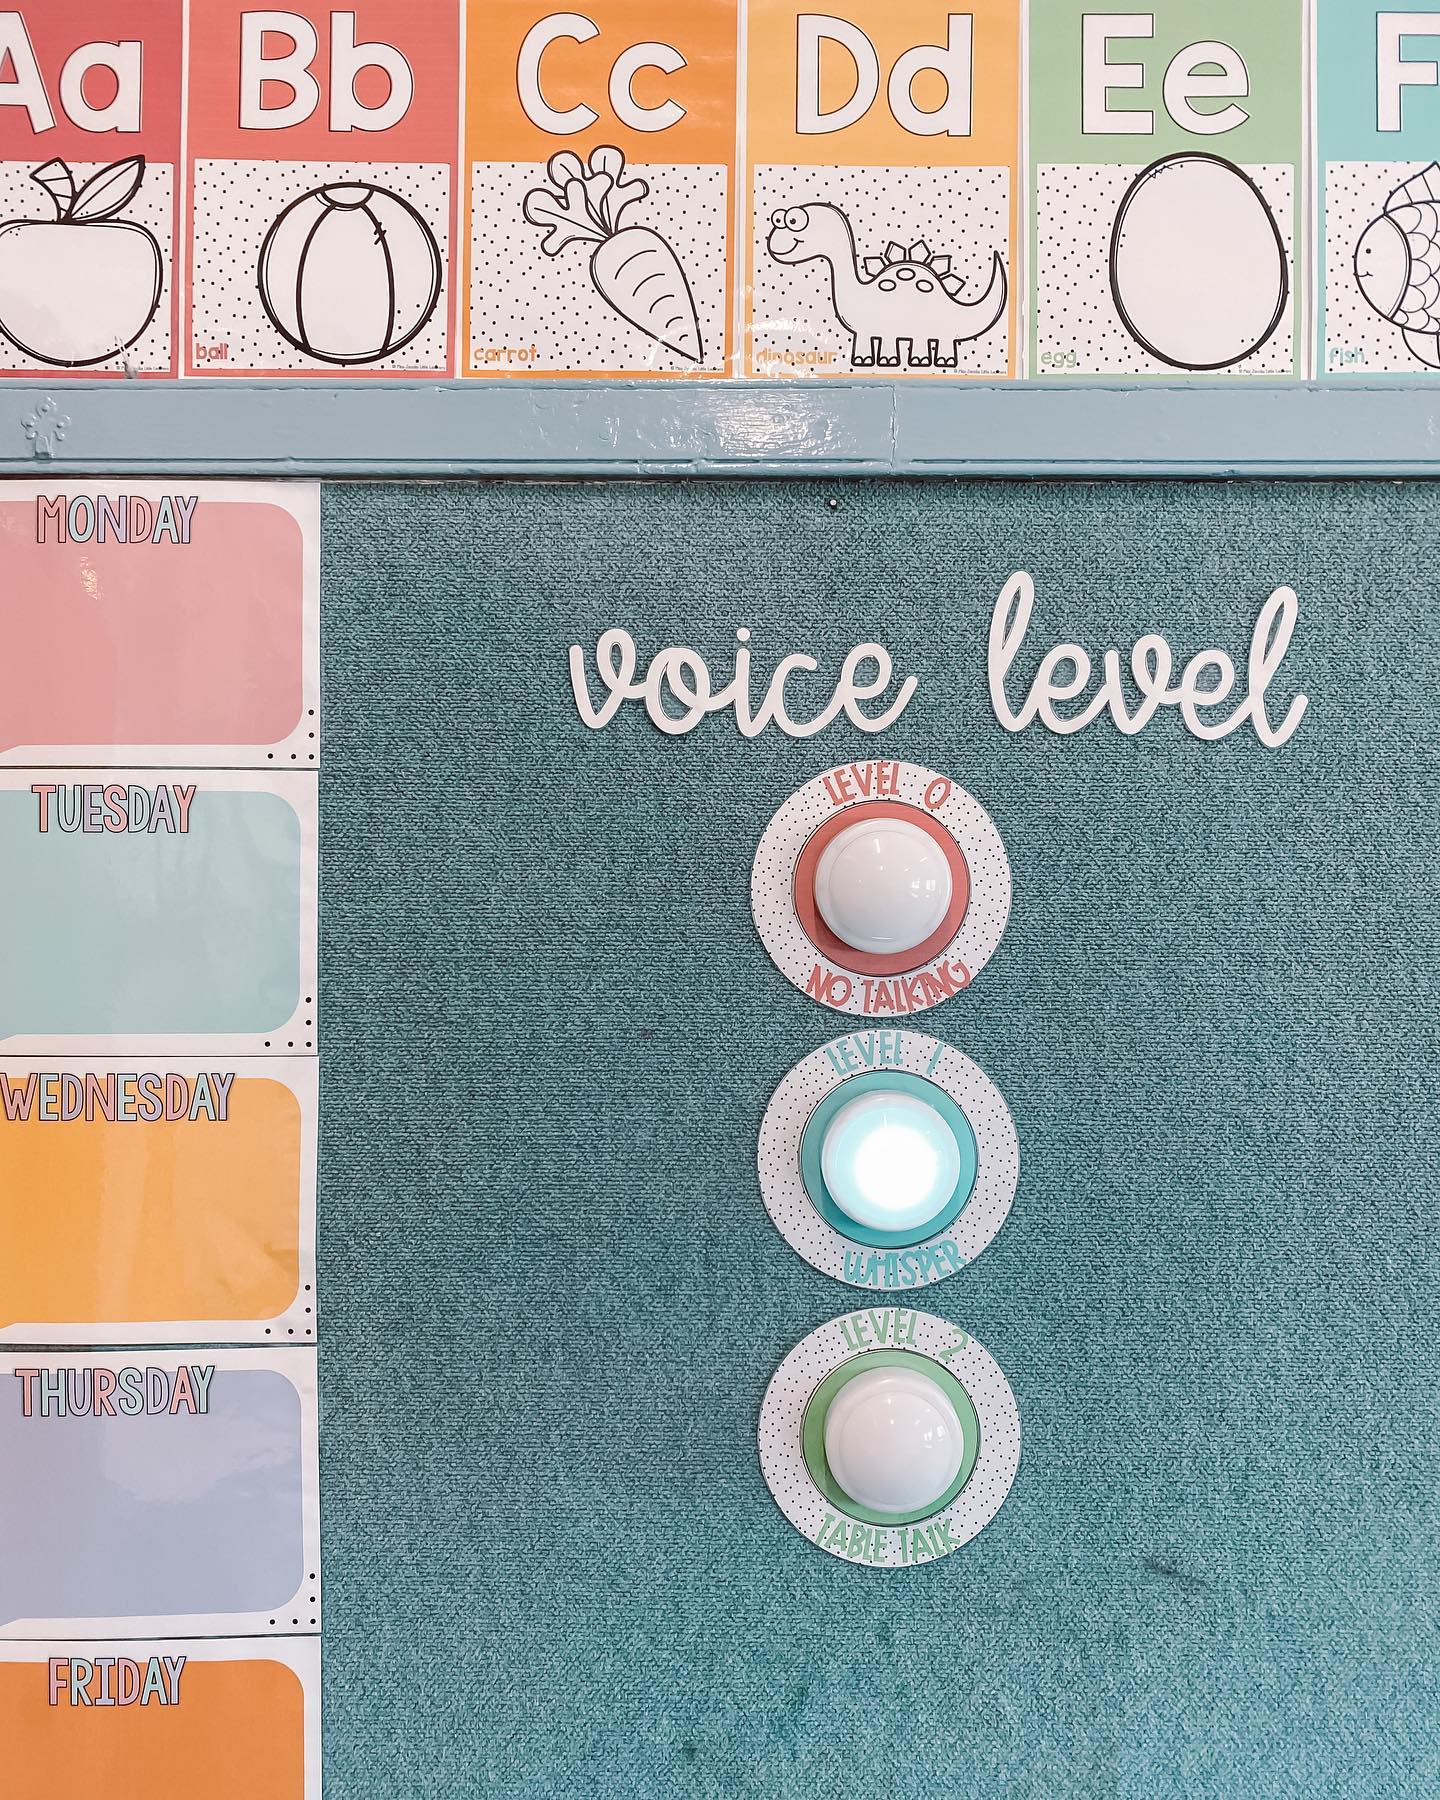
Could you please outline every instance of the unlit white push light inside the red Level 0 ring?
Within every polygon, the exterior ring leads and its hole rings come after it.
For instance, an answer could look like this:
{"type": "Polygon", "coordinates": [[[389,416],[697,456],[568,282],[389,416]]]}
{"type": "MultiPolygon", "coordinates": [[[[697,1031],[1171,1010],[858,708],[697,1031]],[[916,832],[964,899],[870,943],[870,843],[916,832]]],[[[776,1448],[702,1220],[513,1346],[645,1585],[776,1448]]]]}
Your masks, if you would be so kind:
{"type": "Polygon", "coordinates": [[[950,864],[909,819],[866,819],[824,846],[815,905],[841,943],[869,956],[914,950],[950,911],[950,864]]]}

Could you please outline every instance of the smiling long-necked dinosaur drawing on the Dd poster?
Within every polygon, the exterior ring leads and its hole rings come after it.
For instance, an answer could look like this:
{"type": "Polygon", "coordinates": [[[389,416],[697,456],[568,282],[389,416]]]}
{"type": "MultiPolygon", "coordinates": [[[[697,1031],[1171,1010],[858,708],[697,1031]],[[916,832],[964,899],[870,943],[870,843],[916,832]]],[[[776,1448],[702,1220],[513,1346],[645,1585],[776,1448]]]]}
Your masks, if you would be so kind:
{"type": "Polygon", "coordinates": [[[983,337],[1004,317],[1010,286],[999,252],[990,286],[977,301],[961,301],[965,286],[950,274],[949,256],[927,243],[891,243],[884,256],[855,256],[850,220],[814,200],[770,216],[765,248],[778,263],[830,265],[835,317],[851,335],[853,369],[954,369],[959,346],[983,337]]]}

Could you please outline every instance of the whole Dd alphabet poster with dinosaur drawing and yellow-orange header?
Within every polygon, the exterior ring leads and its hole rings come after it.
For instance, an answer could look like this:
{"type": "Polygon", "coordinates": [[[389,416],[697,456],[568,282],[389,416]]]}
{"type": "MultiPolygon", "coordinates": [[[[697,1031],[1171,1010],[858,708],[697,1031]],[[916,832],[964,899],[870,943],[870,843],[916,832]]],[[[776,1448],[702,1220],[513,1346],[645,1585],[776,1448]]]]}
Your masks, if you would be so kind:
{"type": "Polygon", "coordinates": [[[1019,0],[749,9],[747,373],[1015,373],[1019,0]]]}

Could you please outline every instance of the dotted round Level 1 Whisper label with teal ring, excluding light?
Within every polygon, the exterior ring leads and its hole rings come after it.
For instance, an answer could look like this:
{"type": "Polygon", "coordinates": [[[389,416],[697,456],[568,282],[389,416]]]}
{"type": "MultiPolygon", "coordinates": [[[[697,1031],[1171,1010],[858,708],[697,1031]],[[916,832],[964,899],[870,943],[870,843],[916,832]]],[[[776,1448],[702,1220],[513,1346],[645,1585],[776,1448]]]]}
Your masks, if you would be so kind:
{"type": "Polygon", "coordinates": [[[837,1037],[797,1062],[760,1127],[760,1192],[776,1229],[824,1274],[895,1292],[956,1274],[990,1244],[1015,1199],[1015,1121],[990,1076],[920,1031],[871,1028],[837,1037]],[[950,1204],[920,1231],[866,1231],[824,1188],[817,1139],[835,1111],[868,1091],[909,1093],[938,1112],[963,1147],[950,1204]]]}

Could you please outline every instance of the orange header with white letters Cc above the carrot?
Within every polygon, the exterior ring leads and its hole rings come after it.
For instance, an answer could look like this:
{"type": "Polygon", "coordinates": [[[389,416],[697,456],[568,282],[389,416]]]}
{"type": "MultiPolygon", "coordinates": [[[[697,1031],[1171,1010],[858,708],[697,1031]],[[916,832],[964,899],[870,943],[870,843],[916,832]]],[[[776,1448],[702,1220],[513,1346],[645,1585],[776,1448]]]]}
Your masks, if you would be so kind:
{"type": "Polygon", "coordinates": [[[616,144],[626,162],[733,166],[738,25],[736,0],[470,0],[470,160],[616,144]]]}

